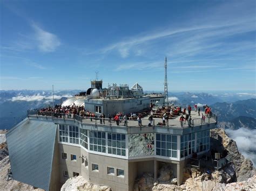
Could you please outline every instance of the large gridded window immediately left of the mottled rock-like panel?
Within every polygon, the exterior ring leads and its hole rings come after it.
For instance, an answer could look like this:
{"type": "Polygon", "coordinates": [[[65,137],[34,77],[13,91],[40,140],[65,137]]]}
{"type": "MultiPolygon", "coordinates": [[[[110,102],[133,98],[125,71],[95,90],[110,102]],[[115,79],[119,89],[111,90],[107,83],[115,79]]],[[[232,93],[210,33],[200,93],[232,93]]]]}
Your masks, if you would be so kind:
{"type": "Polygon", "coordinates": [[[125,135],[107,133],[107,153],[125,156],[125,135]]]}

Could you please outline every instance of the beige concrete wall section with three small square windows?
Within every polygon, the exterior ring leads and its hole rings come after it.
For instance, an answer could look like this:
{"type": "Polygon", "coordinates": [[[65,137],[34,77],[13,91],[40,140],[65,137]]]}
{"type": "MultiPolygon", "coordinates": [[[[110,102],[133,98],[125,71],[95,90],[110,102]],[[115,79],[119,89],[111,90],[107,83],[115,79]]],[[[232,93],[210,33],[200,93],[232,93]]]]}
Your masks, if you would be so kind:
{"type": "Polygon", "coordinates": [[[92,183],[110,186],[112,190],[129,189],[128,161],[89,153],[89,176],[92,183]],[[99,165],[99,171],[92,171],[92,164],[99,165]],[[107,174],[107,166],[115,169],[114,175],[107,174]],[[116,174],[117,168],[124,169],[124,177],[116,174]]]}

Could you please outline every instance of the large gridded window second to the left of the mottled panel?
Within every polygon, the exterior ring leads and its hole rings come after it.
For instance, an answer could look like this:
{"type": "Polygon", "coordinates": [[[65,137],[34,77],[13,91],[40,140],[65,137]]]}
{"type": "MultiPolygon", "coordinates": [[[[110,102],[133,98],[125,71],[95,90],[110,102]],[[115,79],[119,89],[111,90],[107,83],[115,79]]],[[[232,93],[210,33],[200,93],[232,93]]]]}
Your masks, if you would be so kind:
{"type": "Polygon", "coordinates": [[[106,133],[90,131],[90,150],[106,153],[106,133]]]}

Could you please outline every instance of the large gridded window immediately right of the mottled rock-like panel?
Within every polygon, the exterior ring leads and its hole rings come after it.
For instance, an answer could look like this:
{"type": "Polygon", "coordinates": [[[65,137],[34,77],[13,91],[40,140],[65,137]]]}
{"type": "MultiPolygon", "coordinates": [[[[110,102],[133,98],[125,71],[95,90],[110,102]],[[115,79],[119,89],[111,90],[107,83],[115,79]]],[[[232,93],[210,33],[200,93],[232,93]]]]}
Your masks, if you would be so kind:
{"type": "Polygon", "coordinates": [[[157,155],[177,158],[177,136],[156,134],[157,155]]]}

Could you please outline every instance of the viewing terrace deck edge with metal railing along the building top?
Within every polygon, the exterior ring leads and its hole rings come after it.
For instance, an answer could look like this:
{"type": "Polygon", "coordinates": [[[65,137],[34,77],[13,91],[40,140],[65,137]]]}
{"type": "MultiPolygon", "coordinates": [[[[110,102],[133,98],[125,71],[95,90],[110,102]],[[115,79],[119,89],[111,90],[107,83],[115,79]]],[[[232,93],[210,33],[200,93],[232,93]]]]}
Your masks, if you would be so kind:
{"type": "MultiPolygon", "coordinates": [[[[203,112],[204,114],[204,112],[203,112]]],[[[200,112],[201,115],[201,112],[200,112]]],[[[204,114],[205,115],[205,114],[204,114]]],[[[149,115],[150,116],[150,115],[149,115]]],[[[58,121],[60,123],[63,121],[66,122],[74,122],[77,124],[82,125],[89,125],[89,126],[97,126],[102,128],[118,128],[118,129],[126,129],[129,132],[134,133],[146,133],[146,132],[156,132],[156,128],[160,130],[162,133],[176,134],[176,135],[183,135],[185,132],[196,132],[195,128],[210,127],[210,125],[214,125],[217,123],[217,115],[211,113],[210,116],[205,116],[205,120],[201,119],[198,111],[191,111],[191,123],[188,121],[179,121],[180,116],[175,116],[166,120],[166,124],[163,125],[162,118],[153,118],[152,125],[150,124],[149,116],[142,117],[142,125],[140,126],[137,119],[127,119],[127,123],[125,124],[124,119],[120,119],[119,125],[117,125],[116,121],[113,118],[110,120],[109,118],[99,118],[99,117],[82,117],[79,115],[73,114],[63,114],[63,113],[54,113],[54,112],[41,112],[38,110],[28,110],[28,118],[52,118],[54,121],[58,121]],[[171,131],[170,131],[171,130],[171,131]]],[[[212,128],[206,128],[212,129],[212,128]]],[[[127,133],[127,131],[125,131],[127,133]]]]}

